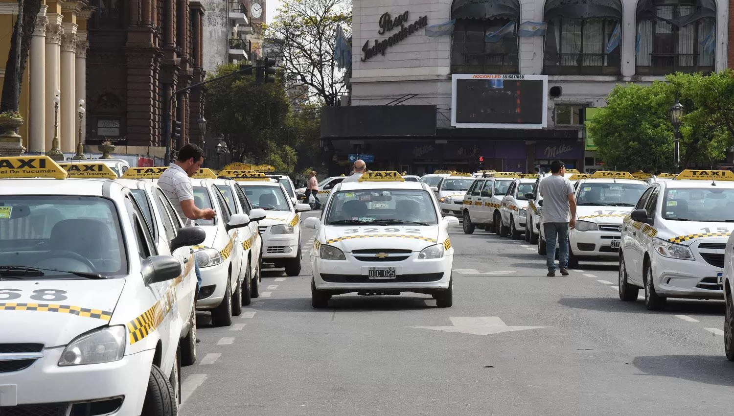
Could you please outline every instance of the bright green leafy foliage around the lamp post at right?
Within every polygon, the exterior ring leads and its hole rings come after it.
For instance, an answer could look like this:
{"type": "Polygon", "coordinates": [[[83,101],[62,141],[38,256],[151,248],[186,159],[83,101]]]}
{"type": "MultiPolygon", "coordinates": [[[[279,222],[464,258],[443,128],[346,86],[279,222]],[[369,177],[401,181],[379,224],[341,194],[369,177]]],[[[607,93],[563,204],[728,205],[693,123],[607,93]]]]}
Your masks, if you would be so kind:
{"type": "Polygon", "coordinates": [[[648,86],[618,85],[607,106],[589,120],[606,166],[647,172],[674,164],[674,128],[669,109],[675,98],[686,110],[680,125],[680,166],[713,166],[734,143],[734,72],[711,76],[675,73],[648,86]]]}

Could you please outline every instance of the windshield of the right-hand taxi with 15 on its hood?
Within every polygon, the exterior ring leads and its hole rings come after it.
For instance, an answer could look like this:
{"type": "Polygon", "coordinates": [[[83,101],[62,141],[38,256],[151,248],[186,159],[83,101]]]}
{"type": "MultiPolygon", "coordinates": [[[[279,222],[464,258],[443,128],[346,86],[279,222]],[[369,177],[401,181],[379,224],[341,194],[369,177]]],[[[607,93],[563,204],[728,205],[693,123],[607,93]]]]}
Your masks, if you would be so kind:
{"type": "Polygon", "coordinates": [[[734,222],[734,189],[668,189],[663,218],[677,221],[734,222]]]}

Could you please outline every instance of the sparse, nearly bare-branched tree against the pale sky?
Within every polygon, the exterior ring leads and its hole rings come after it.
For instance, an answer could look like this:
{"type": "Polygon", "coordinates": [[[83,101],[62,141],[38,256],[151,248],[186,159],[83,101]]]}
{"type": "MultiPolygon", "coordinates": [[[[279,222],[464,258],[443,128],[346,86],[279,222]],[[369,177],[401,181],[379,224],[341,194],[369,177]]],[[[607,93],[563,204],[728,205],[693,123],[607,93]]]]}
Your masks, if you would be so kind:
{"type": "Polygon", "coordinates": [[[284,0],[266,37],[282,56],[289,85],[308,87],[310,100],[335,106],[344,92],[344,74],[336,68],[336,28],[345,36],[352,26],[351,0],[284,0]]]}

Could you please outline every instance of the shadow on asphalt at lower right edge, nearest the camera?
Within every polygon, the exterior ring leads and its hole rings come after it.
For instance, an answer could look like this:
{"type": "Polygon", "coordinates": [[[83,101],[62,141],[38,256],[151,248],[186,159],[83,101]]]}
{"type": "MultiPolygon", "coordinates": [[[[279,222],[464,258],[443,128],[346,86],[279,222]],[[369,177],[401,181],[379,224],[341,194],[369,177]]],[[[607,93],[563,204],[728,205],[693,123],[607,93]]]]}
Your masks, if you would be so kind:
{"type": "Polygon", "coordinates": [[[734,386],[734,362],[727,361],[723,355],[656,355],[636,357],[632,364],[648,376],[734,386]]]}

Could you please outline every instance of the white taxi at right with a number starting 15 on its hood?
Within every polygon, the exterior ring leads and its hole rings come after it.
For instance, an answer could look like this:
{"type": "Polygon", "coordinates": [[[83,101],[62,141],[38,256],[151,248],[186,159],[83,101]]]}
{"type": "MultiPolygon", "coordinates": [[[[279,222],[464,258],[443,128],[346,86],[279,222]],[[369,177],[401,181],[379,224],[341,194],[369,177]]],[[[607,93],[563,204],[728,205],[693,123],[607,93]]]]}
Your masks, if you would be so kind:
{"type": "Polygon", "coordinates": [[[639,288],[650,310],[669,297],[722,299],[734,173],[684,170],[653,183],[634,208],[622,225],[619,299],[636,300],[639,288]]]}

